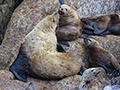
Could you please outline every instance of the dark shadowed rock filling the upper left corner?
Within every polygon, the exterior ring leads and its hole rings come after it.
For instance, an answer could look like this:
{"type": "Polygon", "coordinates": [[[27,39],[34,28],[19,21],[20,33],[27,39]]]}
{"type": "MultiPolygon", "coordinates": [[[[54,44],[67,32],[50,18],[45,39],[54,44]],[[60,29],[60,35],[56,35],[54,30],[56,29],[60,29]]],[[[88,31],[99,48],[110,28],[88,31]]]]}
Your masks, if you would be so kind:
{"type": "Polygon", "coordinates": [[[21,1],[22,0],[0,0],[0,44],[2,43],[12,12],[21,1]]]}

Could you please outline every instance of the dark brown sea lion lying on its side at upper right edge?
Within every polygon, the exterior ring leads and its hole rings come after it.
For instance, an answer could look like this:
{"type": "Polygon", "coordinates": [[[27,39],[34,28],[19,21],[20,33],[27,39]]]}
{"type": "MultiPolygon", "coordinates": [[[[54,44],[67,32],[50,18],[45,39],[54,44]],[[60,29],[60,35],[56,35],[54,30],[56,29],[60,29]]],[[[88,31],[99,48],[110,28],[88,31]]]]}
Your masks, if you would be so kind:
{"type": "Polygon", "coordinates": [[[118,14],[98,15],[82,18],[83,32],[92,35],[120,35],[120,17],[118,14]]]}

